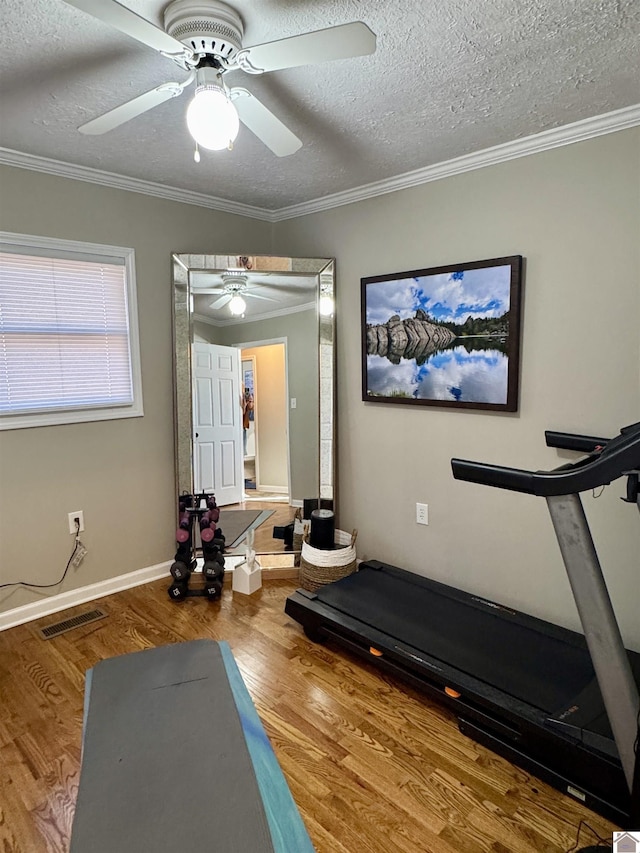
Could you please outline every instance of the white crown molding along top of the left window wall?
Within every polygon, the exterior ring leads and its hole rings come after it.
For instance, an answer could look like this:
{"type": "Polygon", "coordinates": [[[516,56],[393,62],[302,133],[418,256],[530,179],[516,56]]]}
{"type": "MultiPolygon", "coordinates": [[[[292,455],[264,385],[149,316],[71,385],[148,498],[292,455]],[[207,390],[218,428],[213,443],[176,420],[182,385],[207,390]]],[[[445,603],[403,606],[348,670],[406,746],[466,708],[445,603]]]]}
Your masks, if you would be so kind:
{"type": "Polygon", "coordinates": [[[177,187],[167,187],[152,181],[128,178],[126,175],[117,175],[114,172],[102,172],[88,166],[76,166],[73,163],[64,163],[62,160],[50,160],[47,157],[37,157],[35,154],[24,154],[10,148],[0,148],[0,165],[16,166],[20,169],[30,169],[32,172],[44,172],[47,175],[55,175],[60,178],[71,178],[76,181],[86,181],[90,184],[111,187],[112,189],[142,193],[167,201],[177,201],[181,204],[195,204],[198,207],[247,216],[251,219],[262,219],[270,222],[272,218],[272,212],[262,207],[253,207],[250,204],[216,198],[191,190],[181,190],[177,187]]]}

